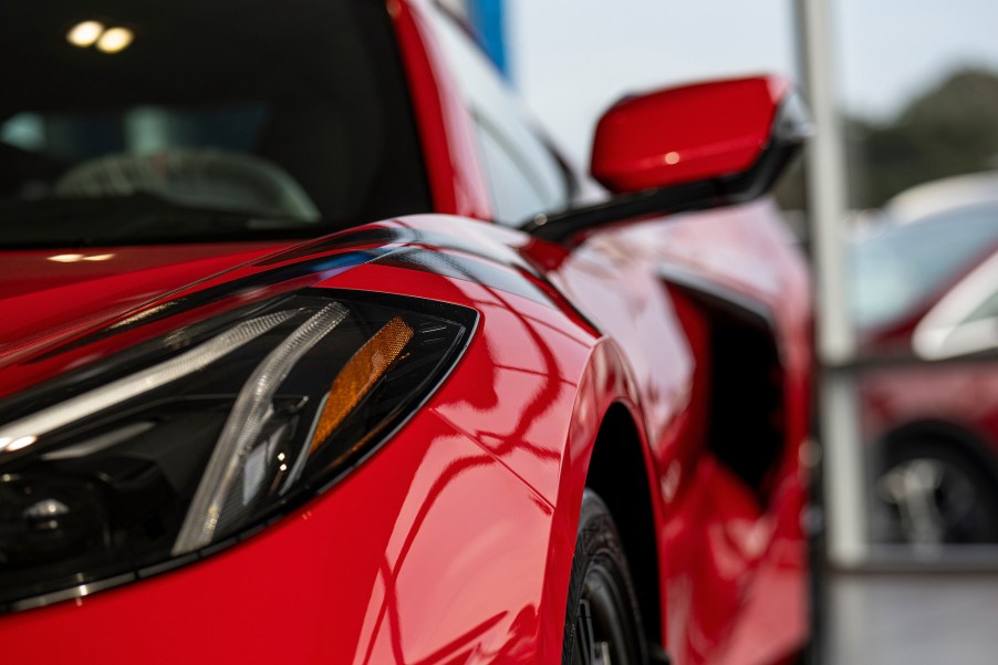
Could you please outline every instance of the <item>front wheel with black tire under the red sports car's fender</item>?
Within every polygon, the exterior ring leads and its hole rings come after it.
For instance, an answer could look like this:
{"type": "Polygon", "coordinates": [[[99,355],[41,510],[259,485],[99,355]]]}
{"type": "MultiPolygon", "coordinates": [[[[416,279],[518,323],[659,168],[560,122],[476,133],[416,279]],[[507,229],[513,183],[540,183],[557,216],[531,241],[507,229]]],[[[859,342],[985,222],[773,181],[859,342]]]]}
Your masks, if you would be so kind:
{"type": "Polygon", "coordinates": [[[565,607],[562,665],[645,665],[637,596],[606,505],[585,490],[565,607]],[[609,655],[607,659],[604,654],[609,655]]]}

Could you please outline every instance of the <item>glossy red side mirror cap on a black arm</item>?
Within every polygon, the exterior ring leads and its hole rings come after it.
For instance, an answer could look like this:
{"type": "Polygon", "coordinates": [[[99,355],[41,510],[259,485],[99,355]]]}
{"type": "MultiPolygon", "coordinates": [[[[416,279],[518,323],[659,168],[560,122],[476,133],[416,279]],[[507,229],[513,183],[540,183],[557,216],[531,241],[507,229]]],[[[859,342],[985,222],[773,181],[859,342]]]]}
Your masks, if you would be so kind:
{"type": "Polygon", "coordinates": [[[590,170],[615,194],[744,172],[791,91],[787,79],[766,75],[627,97],[600,120],[590,170]]]}

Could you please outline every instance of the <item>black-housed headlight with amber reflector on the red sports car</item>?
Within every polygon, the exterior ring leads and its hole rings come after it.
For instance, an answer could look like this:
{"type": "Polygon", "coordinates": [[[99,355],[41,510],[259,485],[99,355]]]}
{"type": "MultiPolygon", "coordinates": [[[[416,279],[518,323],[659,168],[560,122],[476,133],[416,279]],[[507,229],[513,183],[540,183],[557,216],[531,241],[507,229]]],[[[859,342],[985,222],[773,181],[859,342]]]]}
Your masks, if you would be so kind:
{"type": "Polygon", "coordinates": [[[454,366],[474,310],[303,291],[0,406],[0,604],[153,574],[346,472],[454,366]]]}

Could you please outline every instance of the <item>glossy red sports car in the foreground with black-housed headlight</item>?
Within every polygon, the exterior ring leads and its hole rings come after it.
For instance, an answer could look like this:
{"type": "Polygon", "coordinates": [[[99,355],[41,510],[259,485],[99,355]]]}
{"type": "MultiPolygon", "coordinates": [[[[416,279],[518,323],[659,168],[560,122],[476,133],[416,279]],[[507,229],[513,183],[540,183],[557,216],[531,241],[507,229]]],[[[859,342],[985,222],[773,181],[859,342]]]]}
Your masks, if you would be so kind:
{"type": "Polygon", "coordinates": [[[6,661],[800,652],[784,81],[616,104],[590,179],[429,0],[0,35],[6,661]]]}

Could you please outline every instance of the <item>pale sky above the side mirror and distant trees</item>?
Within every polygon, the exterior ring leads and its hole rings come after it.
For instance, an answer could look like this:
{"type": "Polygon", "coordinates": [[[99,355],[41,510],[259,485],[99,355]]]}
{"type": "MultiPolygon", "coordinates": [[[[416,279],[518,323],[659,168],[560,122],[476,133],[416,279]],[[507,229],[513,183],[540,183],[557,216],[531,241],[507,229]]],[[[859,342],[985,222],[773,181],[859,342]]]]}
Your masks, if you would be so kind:
{"type": "MultiPolygon", "coordinates": [[[[563,150],[585,162],[624,94],[773,71],[797,77],[793,0],[507,0],[511,77],[563,150]]],[[[888,118],[966,64],[998,70],[998,0],[832,3],[842,105],[888,118]]]]}

